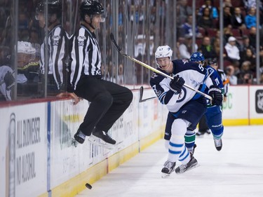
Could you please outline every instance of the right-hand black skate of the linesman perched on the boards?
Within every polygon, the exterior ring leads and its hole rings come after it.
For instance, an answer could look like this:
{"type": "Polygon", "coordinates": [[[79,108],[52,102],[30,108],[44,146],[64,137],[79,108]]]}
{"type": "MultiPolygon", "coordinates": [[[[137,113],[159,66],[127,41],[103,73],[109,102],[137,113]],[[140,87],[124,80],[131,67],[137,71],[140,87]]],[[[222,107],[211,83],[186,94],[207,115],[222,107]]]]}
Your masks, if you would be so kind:
{"type": "Polygon", "coordinates": [[[102,130],[94,130],[93,133],[88,138],[90,143],[95,144],[106,149],[114,149],[116,141],[108,135],[108,133],[103,132],[102,130]]]}

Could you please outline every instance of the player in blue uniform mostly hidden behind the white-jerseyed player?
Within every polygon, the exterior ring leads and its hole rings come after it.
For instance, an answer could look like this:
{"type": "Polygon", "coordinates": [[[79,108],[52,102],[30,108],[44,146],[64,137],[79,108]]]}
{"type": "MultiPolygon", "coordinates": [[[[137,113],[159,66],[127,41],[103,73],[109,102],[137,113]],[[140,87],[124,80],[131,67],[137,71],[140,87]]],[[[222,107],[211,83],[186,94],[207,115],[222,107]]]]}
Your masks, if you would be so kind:
{"type": "MultiPolygon", "coordinates": [[[[196,52],[191,55],[190,60],[192,62],[197,62],[198,61],[198,56],[201,53],[196,52]]],[[[203,57],[203,60],[205,58],[203,57]]],[[[214,60],[215,61],[215,60],[214,60]]],[[[215,86],[217,88],[221,88],[224,93],[224,85],[222,83],[221,77],[218,74],[217,70],[214,69],[213,67],[210,66],[210,64],[213,64],[212,60],[208,61],[208,65],[204,64],[205,69],[208,71],[208,76],[215,81],[215,86]]],[[[205,88],[205,93],[208,93],[209,89],[205,88]]],[[[205,112],[205,118],[206,118],[206,123],[208,124],[208,128],[210,128],[211,132],[213,133],[213,139],[215,143],[215,148],[217,151],[220,151],[222,149],[222,135],[224,131],[224,126],[222,125],[222,109],[221,105],[213,105],[210,103],[209,100],[208,102],[208,109],[205,112]]]]}

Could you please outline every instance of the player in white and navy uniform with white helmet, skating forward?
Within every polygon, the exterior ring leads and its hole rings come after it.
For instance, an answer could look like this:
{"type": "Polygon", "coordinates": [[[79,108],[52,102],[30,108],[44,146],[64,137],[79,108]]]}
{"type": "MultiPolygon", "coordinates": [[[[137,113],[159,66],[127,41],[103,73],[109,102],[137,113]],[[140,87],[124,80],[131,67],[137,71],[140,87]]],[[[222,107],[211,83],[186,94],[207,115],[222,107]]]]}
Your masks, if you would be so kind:
{"type": "Polygon", "coordinates": [[[159,101],[166,104],[170,116],[173,120],[170,124],[171,137],[168,145],[168,161],[164,163],[163,177],[170,175],[173,170],[176,173],[183,173],[198,164],[193,154],[189,154],[184,145],[184,135],[187,130],[194,130],[201,116],[206,111],[206,99],[194,90],[184,88],[187,85],[204,91],[209,87],[208,94],[213,97],[213,104],[222,103],[221,89],[214,86],[215,82],[208,78],[208,72],[201,64],[190,62],[189,60],[173,60],[173,50],[169,46],[159,46],[156,49],[156,64],[159,70],[168,75],[174,76],[174,79],[168,79],[155,72],[150,79],[151,88],[153,88],[159,101]],[[175,169],[176,161],[182,165],[175,169]]]}

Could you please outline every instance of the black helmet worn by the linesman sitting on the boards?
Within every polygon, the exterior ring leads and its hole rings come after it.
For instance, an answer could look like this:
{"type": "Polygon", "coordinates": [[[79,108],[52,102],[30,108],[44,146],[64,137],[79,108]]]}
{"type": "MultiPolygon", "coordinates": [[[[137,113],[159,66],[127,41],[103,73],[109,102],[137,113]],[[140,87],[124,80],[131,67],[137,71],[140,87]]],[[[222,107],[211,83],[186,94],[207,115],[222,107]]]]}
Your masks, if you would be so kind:
{"type": "Polygon", "coordinates": [[[81,18],[84,20],[85,15],[95,15],[104,13],[104,8],[102,4],[97,1],[86,0],[81,3],[79,8],[81,13],[81,18]]]}

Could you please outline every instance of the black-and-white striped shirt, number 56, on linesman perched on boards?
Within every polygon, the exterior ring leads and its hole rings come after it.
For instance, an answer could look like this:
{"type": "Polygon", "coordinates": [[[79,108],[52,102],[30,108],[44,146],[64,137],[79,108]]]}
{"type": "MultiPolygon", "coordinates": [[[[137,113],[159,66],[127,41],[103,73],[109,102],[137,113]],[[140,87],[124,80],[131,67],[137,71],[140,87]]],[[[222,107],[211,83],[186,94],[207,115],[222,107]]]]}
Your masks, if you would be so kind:
{"type": "Polygon", "coordinates": [[[69,84],[67,91],[72,93],[83,76],[101,76],[101,52],[96,36],[81,25],[79,32],[72,37],[72,53],[69,64],[69,84]]]}

